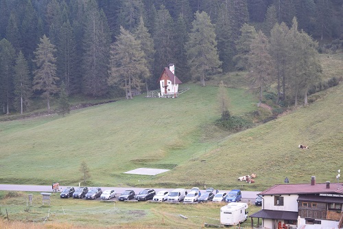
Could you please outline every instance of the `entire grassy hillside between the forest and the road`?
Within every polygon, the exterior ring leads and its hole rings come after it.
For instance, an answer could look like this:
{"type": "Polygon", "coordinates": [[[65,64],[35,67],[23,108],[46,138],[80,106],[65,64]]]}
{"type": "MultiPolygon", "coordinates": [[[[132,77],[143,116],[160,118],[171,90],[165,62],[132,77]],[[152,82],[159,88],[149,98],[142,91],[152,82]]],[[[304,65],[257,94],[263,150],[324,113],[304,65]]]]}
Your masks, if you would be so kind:
{"type": "MultiPolygon", "coordinates": [[[[225,80],[237,85],[237,78],[225,80]]],[[[320,92],[309,107],[233,135],[213,125],[220,117],[215,85],[188,85],[191,89],[177,99],[141,96],[64,118],[0,122],[0,183],[75,186],[82,180],[83,160],[91,170],[88,185],[263,190],[285,177],[309,182],[311,175],[335,182],[342,169],[342,85],[320,92]],[[153,177],[123,174],[140,167],[171,171],[153,177]],[[255,184],[237,182],[249,173],[257,173],[255,184]]],[[[257,109],[255,96],[242,87],[228,89],[233,115],[257,109]]]]}

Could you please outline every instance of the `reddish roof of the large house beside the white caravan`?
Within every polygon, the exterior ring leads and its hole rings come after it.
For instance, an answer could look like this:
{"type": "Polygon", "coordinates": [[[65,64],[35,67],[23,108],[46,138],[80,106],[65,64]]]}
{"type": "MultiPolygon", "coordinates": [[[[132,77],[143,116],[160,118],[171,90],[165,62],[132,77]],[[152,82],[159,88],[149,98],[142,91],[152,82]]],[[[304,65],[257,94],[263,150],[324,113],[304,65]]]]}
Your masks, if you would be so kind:
{"type": "Polygon", "coordinates": [[[330,184],[327,188],[326,183],[311,184],[276,184],[258,195],[300,195],[300,194],[320,194],[332,193],[343,194],[343,184],[330,184]]]}

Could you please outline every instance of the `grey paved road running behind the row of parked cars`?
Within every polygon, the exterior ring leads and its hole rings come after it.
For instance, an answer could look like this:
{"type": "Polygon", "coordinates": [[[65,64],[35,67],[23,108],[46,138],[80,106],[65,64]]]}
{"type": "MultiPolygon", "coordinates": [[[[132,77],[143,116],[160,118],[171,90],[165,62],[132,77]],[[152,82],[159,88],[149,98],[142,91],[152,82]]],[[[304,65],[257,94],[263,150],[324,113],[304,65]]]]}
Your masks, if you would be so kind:
{"type": "MultiPolygon", "coordinates": [[[[60,188],[65,188],[67,186],[60,186],[60,188]]],[[[75,187],[76,188],[76,187],[75,187]]],[[[114,189],[116,193],[120,194],[123,193],[124,190],[134,190],[134,193],[139,193],[144,188],[122,188],[122,187],[100,187],[102,190],[106,189],[114,189]]],[[[156,193],[159,190],[173,190],[172,188],[154,188],[156,193]]],[[[21,184],[0,184],[0,190],[14,190],[14,191],[25,191],[25,192],[48,192],[51,193],[52,189],[51,186],[43,186],[43,185],[21,185],[21,184]]],[[[226,190],[228,191],[228,190],[226,190]]],[[[201,190],[203,193],[204,190],[201,190]]],[[[256,195],[260,192],[255,191],[241,191],[242,199],[255,199],[256,195]]]]}

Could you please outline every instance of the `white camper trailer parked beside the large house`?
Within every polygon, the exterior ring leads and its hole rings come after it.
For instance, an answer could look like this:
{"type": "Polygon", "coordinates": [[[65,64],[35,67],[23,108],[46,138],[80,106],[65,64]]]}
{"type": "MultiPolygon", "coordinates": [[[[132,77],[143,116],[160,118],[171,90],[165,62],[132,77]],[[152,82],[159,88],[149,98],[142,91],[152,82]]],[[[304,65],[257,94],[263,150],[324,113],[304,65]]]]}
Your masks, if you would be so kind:
{"type": "Polygon", "coordinates": [[[220,223],[224,225],[237,225],[248,218],[248,204],[232,202],[220,208],[220,223]]]}

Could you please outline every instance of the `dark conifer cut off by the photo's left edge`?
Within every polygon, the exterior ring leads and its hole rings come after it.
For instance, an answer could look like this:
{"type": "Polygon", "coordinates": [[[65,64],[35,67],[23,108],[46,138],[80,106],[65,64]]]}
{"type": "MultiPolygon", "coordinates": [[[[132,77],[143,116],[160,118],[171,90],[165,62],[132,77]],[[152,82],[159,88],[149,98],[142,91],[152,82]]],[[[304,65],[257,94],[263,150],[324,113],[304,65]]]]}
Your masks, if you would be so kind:
{"type": "Polygon", "coordinates": [[[3,104],[3,113],[10,113],[13,100],[13,75],[14,75],[15,50],[12,44],[2,39],[0,41],[0,102],[3,104]]]}

